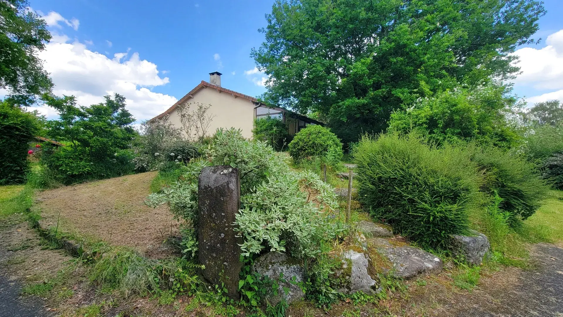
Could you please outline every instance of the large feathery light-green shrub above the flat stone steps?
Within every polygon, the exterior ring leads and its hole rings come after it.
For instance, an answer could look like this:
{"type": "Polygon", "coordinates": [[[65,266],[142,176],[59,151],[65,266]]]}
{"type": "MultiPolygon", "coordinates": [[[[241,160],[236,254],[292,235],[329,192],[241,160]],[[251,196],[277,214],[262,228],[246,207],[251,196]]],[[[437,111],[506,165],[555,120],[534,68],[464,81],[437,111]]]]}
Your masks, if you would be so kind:
{"type": "Polygon", "coordinates": [[[415,135],[363,136],[353,149],[359,199],[373,216],[422,245],[467,234],[482,180],[461,149],[436,149],[415,135]]]}

